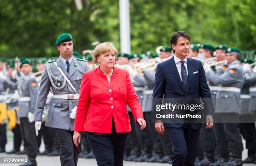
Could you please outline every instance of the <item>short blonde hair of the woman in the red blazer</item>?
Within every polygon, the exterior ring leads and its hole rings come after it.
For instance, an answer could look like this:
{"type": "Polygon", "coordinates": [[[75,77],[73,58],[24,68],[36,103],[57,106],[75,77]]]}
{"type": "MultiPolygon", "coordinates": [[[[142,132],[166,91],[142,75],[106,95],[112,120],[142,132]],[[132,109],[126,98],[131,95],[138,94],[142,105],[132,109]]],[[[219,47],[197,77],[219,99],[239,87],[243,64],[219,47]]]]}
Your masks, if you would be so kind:
{"type": "Polygon", "coordinates": [[[99,65],[99,62],[98,62],[97,58],[100,55],[102,55],[104,53],[108,53],[110,51],[114,51],[115,55],[117,53],[117,49],[115,48],[115,46],[111,42],[105,42],[105,43],[101,43],[101,44],[97,45],[97,47],[95,48],[95,50],[93,52],[93,58],[95,60],[95,63],[97,65],[99,65]]]}

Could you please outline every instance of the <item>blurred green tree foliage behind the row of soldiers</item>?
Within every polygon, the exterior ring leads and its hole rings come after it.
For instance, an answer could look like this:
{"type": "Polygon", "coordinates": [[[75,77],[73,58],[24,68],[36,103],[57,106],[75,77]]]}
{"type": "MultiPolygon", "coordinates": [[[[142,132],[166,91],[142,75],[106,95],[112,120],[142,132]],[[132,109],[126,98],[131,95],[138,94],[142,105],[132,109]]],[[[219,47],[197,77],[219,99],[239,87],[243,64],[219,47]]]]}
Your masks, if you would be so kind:
{"type": "MultiPolygon", "coordinates": [[[[59,34],[73,36],[74,50],[93,49],[92,42],[111,41],[120,50],[118,0],[0,0],[0,56],[58,56],[59,34]]],[[[169,45],[185,30],[191,43],[256,49],[255,0],[130,0],[133,53],[169,45]]]]}

